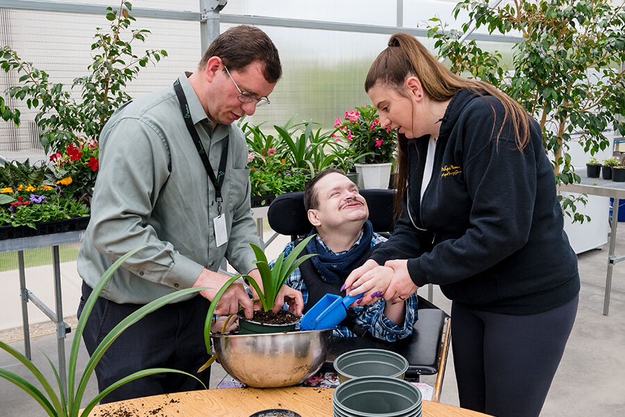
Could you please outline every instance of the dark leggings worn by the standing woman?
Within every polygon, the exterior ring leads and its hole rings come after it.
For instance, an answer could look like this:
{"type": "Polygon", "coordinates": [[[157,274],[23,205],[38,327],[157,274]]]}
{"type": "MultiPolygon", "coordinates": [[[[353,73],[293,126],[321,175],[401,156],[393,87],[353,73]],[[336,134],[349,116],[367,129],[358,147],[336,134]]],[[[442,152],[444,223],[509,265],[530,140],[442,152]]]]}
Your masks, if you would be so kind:
{"type": "Polygon", "coordinates": [[[497,417],[540,414],[562,359],[579,297],[530,316],[451,304],[451,342],[460,407],[497,417]]]}

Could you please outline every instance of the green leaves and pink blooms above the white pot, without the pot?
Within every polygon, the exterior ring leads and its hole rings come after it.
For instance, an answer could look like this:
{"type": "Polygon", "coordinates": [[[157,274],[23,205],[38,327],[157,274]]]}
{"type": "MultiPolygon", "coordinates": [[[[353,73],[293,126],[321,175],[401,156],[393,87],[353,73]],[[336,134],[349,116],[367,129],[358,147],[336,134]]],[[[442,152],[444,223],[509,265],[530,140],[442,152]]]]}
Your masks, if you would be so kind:
{"type": "MultiPolygon", "coordinates": [[[[378,120],[378,110],[374,106],[356,107],[356,110],[345,112],[343,120],[335,120],[333,136],[343,141],[345,147],[353,148],[353,154],[348,152],[347,161],[355,160],[360,163],[388,163],[393,161],[397,132],[390,126],[383,128],[378,120]]],[[[339,148],[335,148],[340,152],[339,148]]],[[[345,165],[343,163],[342,165],[345,165]]],[[[347,171],[346,171],[347,172],[347,171]]]]}

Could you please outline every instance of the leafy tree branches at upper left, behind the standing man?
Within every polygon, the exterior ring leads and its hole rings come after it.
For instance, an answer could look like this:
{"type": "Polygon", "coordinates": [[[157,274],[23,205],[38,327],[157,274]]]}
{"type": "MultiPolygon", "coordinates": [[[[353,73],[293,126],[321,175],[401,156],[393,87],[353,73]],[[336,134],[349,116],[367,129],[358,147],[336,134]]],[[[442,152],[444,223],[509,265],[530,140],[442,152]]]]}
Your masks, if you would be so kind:
{"type": "MultiPolygon", "coordinates": [[[[133,44],[144,42],[150,32],[130,30],[135,18],[130,15],[129,1],[122,1],[115,10],[110,7],[107,10],[110,28],[106,32],[96,28],[91,45],[93,62],[88,66],[90,74],[74,79],[69,89],[81,90],[79,101],[71,98],[65,85],[53,83],[47,72],[22,60],[9,47],[0,49],[0,68],[20,75],[19,85],[10,87],[8,95],[25,100],[28,108],[38,109],[35,122],[40,127],[39,140],[46,152],[64,152],[67,145],[78,142],[97,142],[113,111],[131,99],[125,92],[128,83],[142,67],[167,56],[164,50],[135,54],[133,44]]],[[[0,97],[0,117],[19,125],[19,110],[8,108],[3,97],[0,97]]]]}

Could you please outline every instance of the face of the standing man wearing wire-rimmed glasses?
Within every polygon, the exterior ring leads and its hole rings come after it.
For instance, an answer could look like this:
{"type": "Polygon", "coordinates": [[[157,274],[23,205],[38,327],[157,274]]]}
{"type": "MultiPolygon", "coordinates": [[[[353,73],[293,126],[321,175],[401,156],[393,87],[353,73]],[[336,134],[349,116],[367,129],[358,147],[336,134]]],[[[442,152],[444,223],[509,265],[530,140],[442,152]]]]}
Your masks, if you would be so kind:
{"type": "MultiPolygon", "coordinates": [[[[210,65],[208,70],[210,70],[210,65]]],[[[265,80],[263,63],[258,60],[241,70],[230,70],[230,75],[224,70],[224,65],[219,60],[210,85],[210,94],[206,97],[208,117],[215,125],[228,126],[244,115],[251,116],[256,111],[258,101],[242,103],[238,99],[240,91],[258,98],[267,97],[274,90],[276,83],[269,83],[265,80]]]]}

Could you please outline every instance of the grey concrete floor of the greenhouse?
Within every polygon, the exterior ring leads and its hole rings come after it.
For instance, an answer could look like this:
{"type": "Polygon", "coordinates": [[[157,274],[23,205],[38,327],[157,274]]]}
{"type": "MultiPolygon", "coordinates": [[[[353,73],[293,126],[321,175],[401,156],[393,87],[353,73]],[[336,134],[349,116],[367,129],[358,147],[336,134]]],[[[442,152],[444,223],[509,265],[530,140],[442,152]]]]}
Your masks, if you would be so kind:
{"type": "MultiPolygon", "coordinates": [[[[622,255],[625,252],[625,225],[621,224],[619,229],[617,255],[622,255]]],[[[279,251],[283,245],[284,240],[276,240],[271,246],[272,252],[279,251]]],[[[603,250],[592,250],[578,256],[581,276],[578,315],[541,416],[625,416],[625,263],[620,263],[614,268],[610,315],[603,316],[607,256],[607,245],[603,250]]],[[[419,294],[425,297],[427,288],[421,288],[419,294]]],[[[433,300],[435,304],[449,313],[451,303],[440,294],[437,288],[434,289],[433,300]]],[[[73,335],[73,332],[67,335],[65,342],[68,353],[73,335]]],[[[23,341],[16,341],[10,345],[23,352],[23,341]]],[[[32,340],[35,365],[40,367],[47,376],[51,376],[51,372],[44,353],[56,363],[56,345],[54,334],[32,340]]],[[[78,360],[79,373],[82,372],[87,360],[85,348],[81,345],[78,360]]],[[[6,352],[0,352],[0,368],[26,375],[24,367],[6,352]]],[[[215,387],[224,376],[224,371],[218,365],[213,368],[211,388],[215,387]]],[[[423,381],[434,384],[433,377],[424,377],[423,381]]],[[[92,398],[96,393],[97,386],[93,379],[85,393],[85,398],[92,398]]],[[[453,373],[453,352],[447,361],[441,402],[458,405],[456,380],[453,373]]],[[[0,417],[14,416],[37,417],[44,416],[44,413],[32,398],[1,379],[0,417]]]]}

